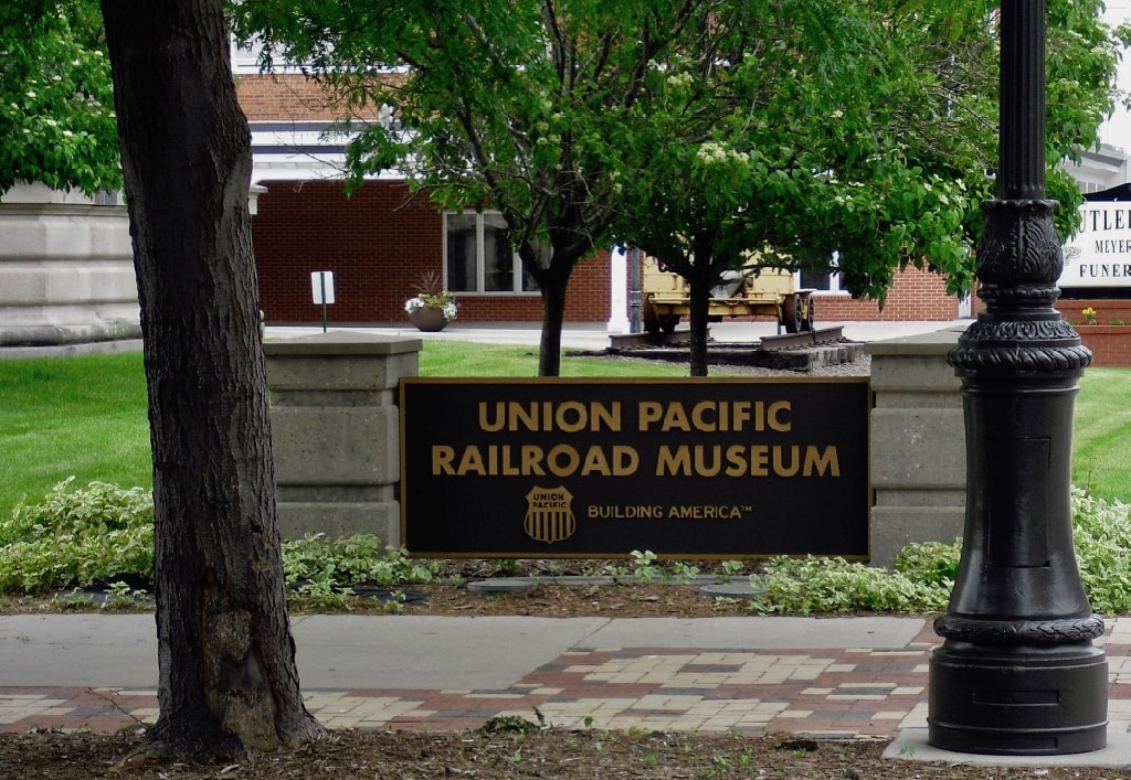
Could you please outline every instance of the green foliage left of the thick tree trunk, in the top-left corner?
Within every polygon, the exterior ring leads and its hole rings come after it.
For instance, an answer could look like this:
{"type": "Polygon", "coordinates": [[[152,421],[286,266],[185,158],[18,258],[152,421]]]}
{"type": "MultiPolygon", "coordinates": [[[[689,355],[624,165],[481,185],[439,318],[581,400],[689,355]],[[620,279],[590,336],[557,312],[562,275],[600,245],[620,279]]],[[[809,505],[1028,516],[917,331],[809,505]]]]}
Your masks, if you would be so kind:
{"type": "Polygon", "coordinates": [[[96,2],[0,5],[0,192],[120,187],[113,109],[96,2]]]}

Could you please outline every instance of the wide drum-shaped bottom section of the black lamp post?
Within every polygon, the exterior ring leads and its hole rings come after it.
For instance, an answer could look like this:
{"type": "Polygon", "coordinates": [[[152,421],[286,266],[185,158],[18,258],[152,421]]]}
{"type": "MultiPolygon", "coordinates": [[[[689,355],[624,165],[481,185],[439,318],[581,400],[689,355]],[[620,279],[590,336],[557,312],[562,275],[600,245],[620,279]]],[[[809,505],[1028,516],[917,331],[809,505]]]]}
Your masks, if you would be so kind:
{"type": "Polygon", "coordinates": [[[1065,755],[1107,745],[1107,660],[1087,644],[982,647],[931,656],[927,742],[958,753],[1065,755]]]}

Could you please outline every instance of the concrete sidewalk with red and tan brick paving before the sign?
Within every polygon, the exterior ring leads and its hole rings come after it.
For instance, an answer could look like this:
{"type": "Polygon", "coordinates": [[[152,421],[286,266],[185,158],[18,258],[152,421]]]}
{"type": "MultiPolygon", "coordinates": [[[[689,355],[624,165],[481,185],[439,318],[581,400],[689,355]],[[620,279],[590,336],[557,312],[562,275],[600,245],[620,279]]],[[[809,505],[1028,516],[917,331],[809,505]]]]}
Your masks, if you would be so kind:
{"type": "MultiPolygon", "coordinates": [[[[307,705],[328,727],[461,730],[534,719],[536,708],[566,728],[893,738],[892,751],[932,755],[927,662],[940,640],[923,618],[299,615],[292,625],[307,705]]],[[[1131,763],[1131,618],[1111,621],[1102,642],[1110,746],[1037,765],[1131,763]]],[[[149,613],[0,616],[0,731],[153,721],[156,662],[149,613]]]]}

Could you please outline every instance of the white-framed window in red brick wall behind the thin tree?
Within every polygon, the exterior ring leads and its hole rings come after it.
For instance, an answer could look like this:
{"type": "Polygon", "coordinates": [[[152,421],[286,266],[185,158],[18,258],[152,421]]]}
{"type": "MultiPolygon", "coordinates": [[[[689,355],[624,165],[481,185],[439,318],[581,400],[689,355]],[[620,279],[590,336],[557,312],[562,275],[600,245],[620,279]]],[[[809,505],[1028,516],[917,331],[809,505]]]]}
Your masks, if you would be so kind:
{"type": "Polygon", "coordinates": [[[443,215],[444,288],[452,293],[534,293],[538,286],[507,240],[497,211],[443,215]]]}

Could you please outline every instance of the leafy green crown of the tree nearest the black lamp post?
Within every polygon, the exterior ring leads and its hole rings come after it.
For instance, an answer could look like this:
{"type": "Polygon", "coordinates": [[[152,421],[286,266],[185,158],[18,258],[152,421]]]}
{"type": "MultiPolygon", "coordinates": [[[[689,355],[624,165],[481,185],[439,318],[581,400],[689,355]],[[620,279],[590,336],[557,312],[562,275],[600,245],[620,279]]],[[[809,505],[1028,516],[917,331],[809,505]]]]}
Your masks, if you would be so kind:
{"type": "MultiPolygon", "coordinates": [[[[931,116],[946,114],[936,105],[943,95],[975,85],[929,97],[896,25],[873,7],[822,0],[785,15],[750,6],[737,24],[753,32],[742,51],[756,57],[728,57],[725,69],[666,63],[670,115],[710,121],[692,133],[685,122],[657,125],[647,155],[657,162],[633,173],[637,187],[622,203],[627,237],[638,225],[641,245],[687,269],[692,283],[713,284],[746,251],[793,268],[827,267],[839,251],[848,286],[882,295],[892,268],[927,250],[967,283],[965,177],[984,177],[987,149],[970,144],[965,159],[946,153],[961,128],[931,116]],[[727,105],[719,83],[734,85],[727,105]],[[916,123],[930,125],[930,165],[912,142],[916,123]]],[[[990,49],[984,28],[979,35],[990,49]]]]}

